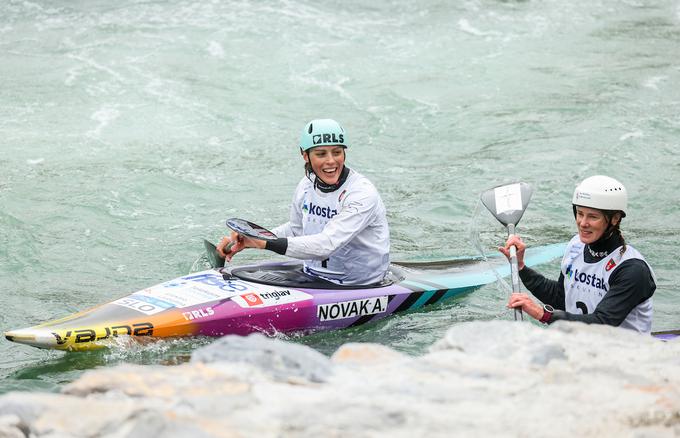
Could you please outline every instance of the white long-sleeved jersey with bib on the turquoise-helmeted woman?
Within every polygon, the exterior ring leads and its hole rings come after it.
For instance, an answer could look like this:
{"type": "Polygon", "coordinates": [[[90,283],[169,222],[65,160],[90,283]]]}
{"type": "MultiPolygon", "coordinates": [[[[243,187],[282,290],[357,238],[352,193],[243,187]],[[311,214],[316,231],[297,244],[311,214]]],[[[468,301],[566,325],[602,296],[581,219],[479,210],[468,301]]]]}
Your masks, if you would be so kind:
{"type": "Polygon", "coordinates": [[[354,170],[330,193],[303,177],[290,220],[272,231],[288,238],[286,256],[304,260],[306,272],[334,283],[377,283],[389,266],[385,206],[375,186],[354,170]]]}

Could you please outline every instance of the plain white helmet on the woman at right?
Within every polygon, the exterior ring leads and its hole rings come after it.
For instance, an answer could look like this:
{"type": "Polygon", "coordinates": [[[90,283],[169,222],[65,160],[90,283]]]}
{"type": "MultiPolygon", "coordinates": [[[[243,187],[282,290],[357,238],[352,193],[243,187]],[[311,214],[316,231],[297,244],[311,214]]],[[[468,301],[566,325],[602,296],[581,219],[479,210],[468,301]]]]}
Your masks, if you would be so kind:
{"type": "Polygon", "coordinates": [[[628,208],[628,192],[619,181],[604,175],[595,175],[584,179],[576,186],[573,205],[596,208],[598,210],[620,211],[626,216],[628,208]]]}

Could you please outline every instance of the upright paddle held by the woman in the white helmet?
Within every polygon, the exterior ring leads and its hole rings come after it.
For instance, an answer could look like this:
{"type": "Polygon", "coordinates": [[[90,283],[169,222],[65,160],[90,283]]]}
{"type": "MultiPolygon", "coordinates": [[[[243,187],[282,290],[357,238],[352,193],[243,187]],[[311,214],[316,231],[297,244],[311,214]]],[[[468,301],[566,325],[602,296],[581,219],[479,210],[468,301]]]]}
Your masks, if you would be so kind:
{"type": "MultiPolygon", "coordinates": [[[[518,182],[494,187],[482,193],[482,204],[496,219],[508,229],[508,237],[515,234],[515,227],[524,214],[532,189],[529,184],[518,182]]],[[[510,270],[512,273],[512,292],[519,293],[519,268],[517,248],[510,247],[510,270]]],[[[515,320],[523,319],[522,309],[515,309],[515,320]]]]}

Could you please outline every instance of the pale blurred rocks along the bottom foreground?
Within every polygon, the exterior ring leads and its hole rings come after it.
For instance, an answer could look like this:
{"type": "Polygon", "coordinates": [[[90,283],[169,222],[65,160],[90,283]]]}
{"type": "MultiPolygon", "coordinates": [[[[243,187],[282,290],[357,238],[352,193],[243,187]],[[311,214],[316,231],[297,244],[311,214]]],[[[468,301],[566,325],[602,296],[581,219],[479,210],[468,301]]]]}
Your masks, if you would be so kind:
{"type": "Polygon", "coordinates": [[[0,397],[0,436],[677,436],[678,358],[680,342],[581,324],[461,324],[421,357],[225,337],[191,363],[0,397]]]}

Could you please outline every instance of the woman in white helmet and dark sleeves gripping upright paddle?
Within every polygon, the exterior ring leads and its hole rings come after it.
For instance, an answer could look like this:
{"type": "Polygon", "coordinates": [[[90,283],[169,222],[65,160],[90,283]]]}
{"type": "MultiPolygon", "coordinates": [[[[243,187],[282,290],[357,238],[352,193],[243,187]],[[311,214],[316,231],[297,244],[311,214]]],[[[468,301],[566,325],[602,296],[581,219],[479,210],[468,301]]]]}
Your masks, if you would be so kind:
{"type": "Polygon", "coordinates": [[[525,245],[519,236],[510,236],[499,250],[509,258],[510,247],[517,247],[522,283],[545,304],[516,293],[508,307],[547,324],[564,319],[649,333],[656,282],[642,254],[626,244],[619,229],[627,204],[626,188],[614,178],[592,176],[576,187],[572,205],[578,234],[567,245],[557,281],[525,267],[525,245]]]}

